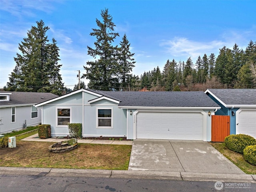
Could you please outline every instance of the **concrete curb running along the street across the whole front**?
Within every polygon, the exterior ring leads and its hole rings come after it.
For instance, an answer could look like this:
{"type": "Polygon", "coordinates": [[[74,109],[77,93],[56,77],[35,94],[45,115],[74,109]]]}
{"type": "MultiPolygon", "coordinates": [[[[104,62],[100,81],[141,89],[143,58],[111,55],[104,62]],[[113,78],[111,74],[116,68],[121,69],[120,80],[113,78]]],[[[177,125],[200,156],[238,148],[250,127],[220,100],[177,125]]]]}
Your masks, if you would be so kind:
{"type": "Polygon", "coordinates": [[[256,183],[256,175],[166,171],[0,167],[0,174],[256,183]]]}

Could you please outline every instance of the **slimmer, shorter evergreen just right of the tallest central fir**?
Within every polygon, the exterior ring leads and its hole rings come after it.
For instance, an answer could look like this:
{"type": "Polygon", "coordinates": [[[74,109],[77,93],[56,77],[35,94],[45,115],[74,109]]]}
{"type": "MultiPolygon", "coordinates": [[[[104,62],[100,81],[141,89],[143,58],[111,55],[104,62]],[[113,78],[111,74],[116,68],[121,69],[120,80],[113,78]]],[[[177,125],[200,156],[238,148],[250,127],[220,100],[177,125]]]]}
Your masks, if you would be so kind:
{"type": "Polygon", "coordinates": [[[118,61],[120,65],[120,78],[121,78],[121,87],[128,87],[126,83],[129,83],[128,80],[131,79],[130,72],[132,72],[132,68],[135,67],[135,61],[132,56],[134,53],[130,52],[130,43],[127,40],[126,34],[122,38],[122,42],[120,43],[121,47],[119,48],[118,61]]]}

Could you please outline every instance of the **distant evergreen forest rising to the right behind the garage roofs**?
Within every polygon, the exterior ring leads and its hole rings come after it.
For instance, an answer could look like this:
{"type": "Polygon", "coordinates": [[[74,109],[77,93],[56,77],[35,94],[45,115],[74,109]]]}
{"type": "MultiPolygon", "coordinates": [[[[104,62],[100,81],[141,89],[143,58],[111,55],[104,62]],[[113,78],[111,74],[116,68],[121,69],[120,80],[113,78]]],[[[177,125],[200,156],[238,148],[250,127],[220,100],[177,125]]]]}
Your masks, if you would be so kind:
{"type": "Polygon", "coordinates": [[[205,90],[206,88],[256,88],[256,42],[250,41],[246,50],[235,44],[224,46],[219,55],[212,53],[184,61],[167,60],[164,69],[154,68],[139,78],[144,90],[205,90]],[[146,89],[145,89],[146,88],[146,89]]]}

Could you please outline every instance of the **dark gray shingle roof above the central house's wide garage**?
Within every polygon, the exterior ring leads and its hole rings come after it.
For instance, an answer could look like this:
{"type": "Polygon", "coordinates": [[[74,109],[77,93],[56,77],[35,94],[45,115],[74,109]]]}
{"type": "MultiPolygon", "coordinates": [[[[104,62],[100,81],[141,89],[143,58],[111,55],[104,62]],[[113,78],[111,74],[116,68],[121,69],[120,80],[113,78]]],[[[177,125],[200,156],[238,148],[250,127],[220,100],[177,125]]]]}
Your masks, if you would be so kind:
{"type": "Polygon", "coordinates": [[[204,92],[112,92],[95,91],[120,100],[119,106],[142,107],[219,107],[204,92]]]}

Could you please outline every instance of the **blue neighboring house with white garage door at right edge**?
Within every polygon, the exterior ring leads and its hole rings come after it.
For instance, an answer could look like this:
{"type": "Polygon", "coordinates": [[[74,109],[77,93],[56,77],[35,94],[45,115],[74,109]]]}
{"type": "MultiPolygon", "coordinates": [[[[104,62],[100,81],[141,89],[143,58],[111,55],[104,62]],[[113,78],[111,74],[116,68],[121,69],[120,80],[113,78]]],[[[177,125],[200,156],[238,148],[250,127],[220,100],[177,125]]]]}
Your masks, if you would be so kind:
{"type": "Polygon", "coordinates": [[[230,116],[230,134],[256,138],[256,89],[208,89],[205,93],[221,106],[216,115],[230,116]]]}

